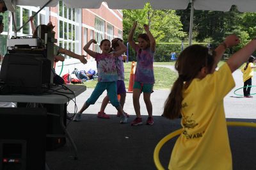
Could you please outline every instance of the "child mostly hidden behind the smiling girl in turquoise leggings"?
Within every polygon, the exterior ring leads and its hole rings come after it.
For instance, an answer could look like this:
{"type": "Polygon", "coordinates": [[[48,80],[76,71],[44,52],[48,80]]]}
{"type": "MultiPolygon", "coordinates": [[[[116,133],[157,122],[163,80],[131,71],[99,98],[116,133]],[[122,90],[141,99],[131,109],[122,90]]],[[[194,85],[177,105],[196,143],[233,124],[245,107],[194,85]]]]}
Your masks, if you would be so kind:
{"type": "MultiPolygon", "coordinates": [[[[123,42],[120,38],[114,38],[111,41],[113,52],[116,52],[120,50],[120,45],[117,43],[117,41],[120,40],[120,42],[123,42]]],[[[126,97],[126,89],[125,89],[125,84],[124,84],[124,56],[120,55],[116,57],[116,71],[118,75],[118,81],[116,82],[116,88],[117,88],[117,95],[120,95],[120,104],[123,108],[124,111],[124,103],[125,103],[125,97],[126,97]]],[[[106,109],[106,106],[108,105],[109,98],[108,95],[102,100],[102,104],[100,107],[100,111],[98,112],[98,118],[104,118],[104,119],[109,119],[109,115],[106,114],[104,111],[106,109]]],[[[129,118],[129,114],[124,112],[125,116],[129,118]]],[[[117,112],[116,114],[117,117],[121,116],[120,112],[117,112]]]]}

